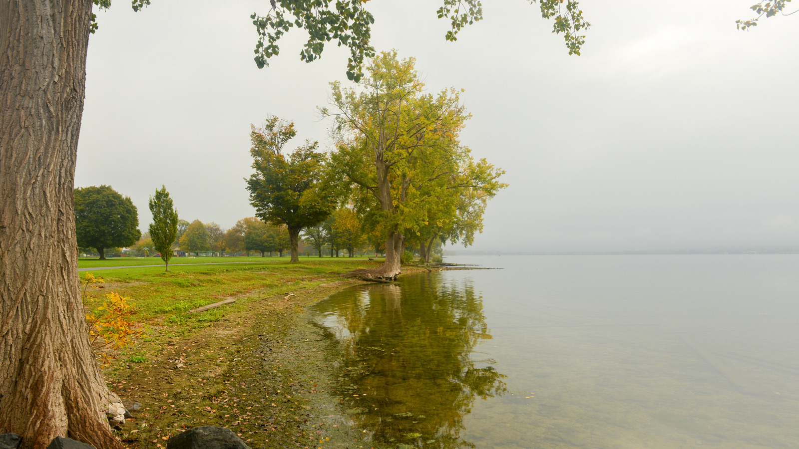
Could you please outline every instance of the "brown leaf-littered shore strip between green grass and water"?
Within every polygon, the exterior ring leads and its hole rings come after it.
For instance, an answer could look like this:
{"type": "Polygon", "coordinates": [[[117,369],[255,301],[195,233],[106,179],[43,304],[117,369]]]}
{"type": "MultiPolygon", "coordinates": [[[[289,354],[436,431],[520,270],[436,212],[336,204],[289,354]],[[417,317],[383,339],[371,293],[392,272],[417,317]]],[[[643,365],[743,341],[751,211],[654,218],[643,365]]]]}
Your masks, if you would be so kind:
{"type": "MultiPolygon", "coordinates": [[[[401,276],[452,268],[406,267],[401,276]]],[[[324,277],[283,294],[252,292],[244,308],[204,328],[151,328],[133,348],[137,356],[123,360],[123,352],[104,370],[132,415],[117,431],[122,443],[163,448],[187,428],[217,425],[253,449],[378,447],[338,406],[332,347],[307,312],[344,288],[370,283],[337,272],[324,277]]]]}

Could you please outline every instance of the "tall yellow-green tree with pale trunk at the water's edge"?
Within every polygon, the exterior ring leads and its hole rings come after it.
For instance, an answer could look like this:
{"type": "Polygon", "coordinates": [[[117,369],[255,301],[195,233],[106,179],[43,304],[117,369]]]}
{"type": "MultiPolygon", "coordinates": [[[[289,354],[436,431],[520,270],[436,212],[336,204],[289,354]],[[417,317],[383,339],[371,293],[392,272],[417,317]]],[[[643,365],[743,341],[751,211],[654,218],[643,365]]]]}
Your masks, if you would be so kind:
{"type": "Polygon", "coordinates": [[[336,183],[344,185],[367,228],[385,236],[386,260],[370,274],[394,279],[405,236],[418,235],[429,224],[430,211],[454,213],[449,198],[459,189],[492,196],[504,186],[496,181],[503,172],[484,160],[475,163],[459,144],[468,117],[459,91],[423,93],[414,60],[398,61],[396,52],[380,54],[367,70],[362,89],[331,83],[339,145],[330,173],[338,176],[336,183]],[[463,169],[481,176],[464,177],[463,169]]]}

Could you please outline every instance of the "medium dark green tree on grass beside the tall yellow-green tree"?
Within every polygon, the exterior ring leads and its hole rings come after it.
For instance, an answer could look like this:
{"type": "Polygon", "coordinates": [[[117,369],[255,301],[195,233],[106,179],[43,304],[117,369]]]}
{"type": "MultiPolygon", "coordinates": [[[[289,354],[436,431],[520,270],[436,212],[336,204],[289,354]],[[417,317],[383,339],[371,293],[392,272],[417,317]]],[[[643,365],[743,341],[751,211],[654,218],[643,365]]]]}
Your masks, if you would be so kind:
{"type": "Polygon", "coordinates": [[[286,226],[292,262],[300,260],[297,244],[302,228],[324,221],[335,207],[321,183],[326,157],[316,151],[318,142],[306,141],[291,156],[283,154],[284,145],[295,135],[294,124],[278,117],[268,117],[261,129],[253,126],[250,154],[255,173],[247,180],[256,216],[286,226]]]}

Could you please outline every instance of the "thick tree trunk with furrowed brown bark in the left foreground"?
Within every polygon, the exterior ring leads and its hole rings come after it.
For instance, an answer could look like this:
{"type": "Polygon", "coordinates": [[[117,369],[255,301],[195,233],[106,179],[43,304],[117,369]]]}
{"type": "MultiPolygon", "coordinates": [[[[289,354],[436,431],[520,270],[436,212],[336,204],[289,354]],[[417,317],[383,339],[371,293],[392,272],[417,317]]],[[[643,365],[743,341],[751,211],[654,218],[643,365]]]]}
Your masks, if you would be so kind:
{"type": "Polygon", "coordinates": [[[121,449],[78,288],[74,170],[90,0],[0,2],[0,433],[121,449]]]}

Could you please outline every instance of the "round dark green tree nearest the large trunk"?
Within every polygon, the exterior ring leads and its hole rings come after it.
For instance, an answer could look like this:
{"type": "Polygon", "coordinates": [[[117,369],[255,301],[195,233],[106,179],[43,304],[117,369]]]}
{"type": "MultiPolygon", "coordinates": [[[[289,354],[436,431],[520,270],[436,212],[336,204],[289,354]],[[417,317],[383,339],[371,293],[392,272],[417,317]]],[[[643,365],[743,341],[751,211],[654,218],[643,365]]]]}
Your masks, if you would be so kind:
{"type": "Polygon", "coordinates": [[[105,248],[134,244],[141,237],[139,216],[129,197],[109,185],[75,189],[75,233],[78,246],[95,248],[105,260],[105,248]]]}

